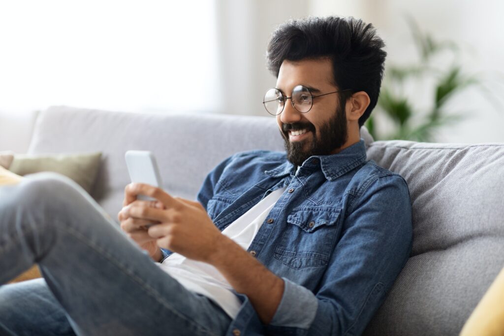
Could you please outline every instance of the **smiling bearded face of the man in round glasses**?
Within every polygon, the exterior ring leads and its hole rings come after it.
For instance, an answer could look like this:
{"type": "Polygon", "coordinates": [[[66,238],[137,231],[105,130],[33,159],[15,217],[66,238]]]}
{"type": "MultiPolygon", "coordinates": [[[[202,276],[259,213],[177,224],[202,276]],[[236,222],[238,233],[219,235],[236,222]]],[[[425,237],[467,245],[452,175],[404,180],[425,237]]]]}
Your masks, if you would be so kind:
{"type": "MultiPolygon", "coordinates": [[[[309,88],[313,96],[318,96],[340,90],[332,84],[332,79],[329,59],[284,61],[276,87],[286,97],[291,96],[297,85],[309,88]]],[[[313,98],[313,106],[307,113],[300,113],[288,99],[277,116],[277,123],[285,141],[287,159],[295,165],[301,165],[312,155],[337,153],[348,138],[345,107],[339,106],[339,93],[313,98]]]]}

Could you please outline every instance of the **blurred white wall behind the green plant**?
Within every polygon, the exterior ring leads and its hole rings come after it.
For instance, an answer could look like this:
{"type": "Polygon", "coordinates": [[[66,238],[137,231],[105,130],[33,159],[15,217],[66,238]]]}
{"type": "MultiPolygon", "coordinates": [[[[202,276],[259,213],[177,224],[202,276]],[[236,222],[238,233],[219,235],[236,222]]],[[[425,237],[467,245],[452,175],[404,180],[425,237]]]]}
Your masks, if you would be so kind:
{"type": "MultiPolygon", "coordinates": [[[[353,0],[310,1],[313,15],[354,16],[373,23],[387,43],[387,64],[415,60],[405,15],[411,15],[422,30],[440,40],[457,42],[465,55],[465,71],[480,74],[496,102],[470,88],[450,101],[449,112],[461,111],[468,118],[443,128],[438,141],[504,142],[504,2],[498,0],[353,0]],[[495,106],[496,104],[497,106],[495,106]]],[[[422,92],[423,91],[423,92],[422,92]]],[[[431,99],[419,90],[417,101],[431,99]]]]}

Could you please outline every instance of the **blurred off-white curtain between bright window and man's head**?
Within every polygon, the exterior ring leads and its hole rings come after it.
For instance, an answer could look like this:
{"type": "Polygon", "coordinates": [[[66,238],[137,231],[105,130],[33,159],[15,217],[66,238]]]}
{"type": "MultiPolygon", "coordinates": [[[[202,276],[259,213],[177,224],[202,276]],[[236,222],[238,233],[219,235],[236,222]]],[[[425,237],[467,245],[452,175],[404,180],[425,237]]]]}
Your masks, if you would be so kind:
{"type": "Polygon", "coordinates": [[[227,114],[269,116],[263,106],[266,90],[276,78],[266,70],[266,48],[280,23],[307,15],[304,0],[220,0],[217,22],[222,111],[227,114]]]}

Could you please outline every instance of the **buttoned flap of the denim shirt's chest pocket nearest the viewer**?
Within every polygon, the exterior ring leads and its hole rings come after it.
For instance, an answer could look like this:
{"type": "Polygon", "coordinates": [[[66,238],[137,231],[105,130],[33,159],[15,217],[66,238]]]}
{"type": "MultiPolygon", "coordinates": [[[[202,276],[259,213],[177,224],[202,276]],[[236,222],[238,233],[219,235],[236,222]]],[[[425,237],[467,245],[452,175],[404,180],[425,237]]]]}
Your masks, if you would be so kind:
{"type": "Polygon", "coordinates": [[[335,225],[341,209],[299,209],[287,216],[287,222],[300,227],[306,232],[313,232],[322,226],[335,225]]]}

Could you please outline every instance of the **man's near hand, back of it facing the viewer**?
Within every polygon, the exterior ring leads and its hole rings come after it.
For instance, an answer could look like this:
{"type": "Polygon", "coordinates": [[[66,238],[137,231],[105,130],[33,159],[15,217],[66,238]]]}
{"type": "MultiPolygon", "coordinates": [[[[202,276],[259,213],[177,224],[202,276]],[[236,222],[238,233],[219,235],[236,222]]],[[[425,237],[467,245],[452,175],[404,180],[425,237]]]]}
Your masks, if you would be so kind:
{"type": "Polygon", "coordinates": [[[132,221],[140,220],[138,226],[158,222],[147,229],[148,236],[156,240],[158,247],[204,262],[212,260],[218,252],[224,236],[200,203],[172,197],[159,188],[140,183],[129,184],[125,195],[125,203],[129,205],[122,208],[120,215],[131,217],[132,221]],[[140,194],[157,199],[163,207],[135,203],[140,194]]]}

